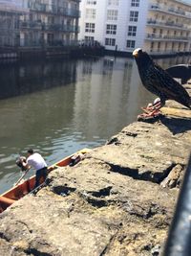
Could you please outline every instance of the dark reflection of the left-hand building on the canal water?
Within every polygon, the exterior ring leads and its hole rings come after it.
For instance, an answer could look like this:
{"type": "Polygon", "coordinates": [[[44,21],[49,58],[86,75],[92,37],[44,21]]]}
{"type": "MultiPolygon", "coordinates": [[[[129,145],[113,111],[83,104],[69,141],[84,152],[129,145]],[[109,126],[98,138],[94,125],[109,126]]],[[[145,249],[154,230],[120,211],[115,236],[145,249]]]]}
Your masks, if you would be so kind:
{"type": "Polygon", "coordinates": [[[10,63],[0,66],[0,99],[40,91],[75,81],[75,61],[10,63]]]}

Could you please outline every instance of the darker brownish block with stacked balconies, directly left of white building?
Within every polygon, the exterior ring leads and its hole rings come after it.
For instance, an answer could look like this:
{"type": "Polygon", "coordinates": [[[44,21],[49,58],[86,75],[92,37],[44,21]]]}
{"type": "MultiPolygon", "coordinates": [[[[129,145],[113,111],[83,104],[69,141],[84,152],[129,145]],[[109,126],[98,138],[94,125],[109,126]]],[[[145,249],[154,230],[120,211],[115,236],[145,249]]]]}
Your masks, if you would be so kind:
{"type": "Polygon", "coordinates": [[[80,0],[26,0],[21,18],[21,46],[76,44],[80,0]]]}

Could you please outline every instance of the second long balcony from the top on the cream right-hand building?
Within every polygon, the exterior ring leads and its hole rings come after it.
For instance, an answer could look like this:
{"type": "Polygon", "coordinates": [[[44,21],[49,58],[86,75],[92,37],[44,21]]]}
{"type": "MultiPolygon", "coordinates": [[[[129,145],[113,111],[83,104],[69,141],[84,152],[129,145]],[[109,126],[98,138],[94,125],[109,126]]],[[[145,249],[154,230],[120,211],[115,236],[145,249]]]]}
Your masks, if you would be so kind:
{"type": "Polygon", "coordinates": [[[191,28],[188,28],[187,26],[185,26],[181,23],[175,23],[174,21],[160,22],[158,20],[148,19],[147,25],[152,26],[152,27],[176,29],[176,30],[181,30],[181,31],[190,31],[191,30],[191,28]]]}

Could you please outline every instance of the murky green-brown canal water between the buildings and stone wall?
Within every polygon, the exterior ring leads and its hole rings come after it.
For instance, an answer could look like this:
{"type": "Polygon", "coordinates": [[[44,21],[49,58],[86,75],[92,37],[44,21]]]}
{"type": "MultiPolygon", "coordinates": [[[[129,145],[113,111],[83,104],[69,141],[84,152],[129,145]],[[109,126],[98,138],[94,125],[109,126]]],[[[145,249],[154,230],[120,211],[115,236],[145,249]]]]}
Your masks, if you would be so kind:
{"type": "MultiPolygon", "coordinates": [[[[189,58],[156,61],[166,68],[189,58]]],[[[7,63],[0,78],[0,193],[21,176],[15,160],[29,148],[50,165],[104,145],[155,98],[141,85],[133,58],[7,63]]]]}

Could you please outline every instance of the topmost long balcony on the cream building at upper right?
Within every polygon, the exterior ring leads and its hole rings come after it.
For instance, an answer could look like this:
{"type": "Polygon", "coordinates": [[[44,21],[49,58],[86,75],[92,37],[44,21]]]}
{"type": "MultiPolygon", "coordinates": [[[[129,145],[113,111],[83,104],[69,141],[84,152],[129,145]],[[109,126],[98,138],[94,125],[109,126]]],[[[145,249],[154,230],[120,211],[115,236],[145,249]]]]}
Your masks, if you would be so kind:
{"type": "Polygon", "coordinates": [[[159,5],[159,4],[150,5],[149,11],[151,11],[151,12],[163,12],[163,13],[168,13],[168,14],[171,14],[171,15],[176,15],[176,16],[191,19],[190,12],[183,12],[183,11],[180,11],[178,9],[168,8],[168,7],[159,5]]]}

